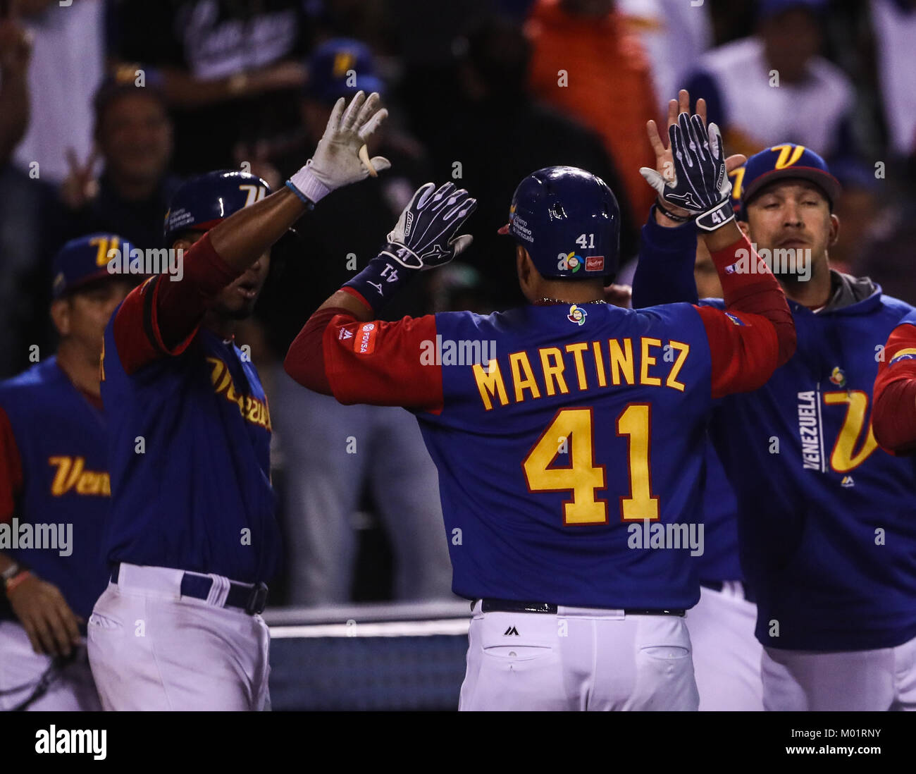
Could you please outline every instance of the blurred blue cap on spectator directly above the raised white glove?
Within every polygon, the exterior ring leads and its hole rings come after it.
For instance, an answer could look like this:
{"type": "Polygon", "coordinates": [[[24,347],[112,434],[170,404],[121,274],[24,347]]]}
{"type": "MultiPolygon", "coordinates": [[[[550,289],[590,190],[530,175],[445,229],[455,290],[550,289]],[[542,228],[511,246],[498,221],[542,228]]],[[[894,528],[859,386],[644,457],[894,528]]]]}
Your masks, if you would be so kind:
{"type": "Polygon", "coordinates": [[[372,51],[353,38],[333,38],[315,49],[306,62],[309,77],[304,94],[334,104],[356,92],[383,93],[385,84],[376,74],[372,51]]]}

